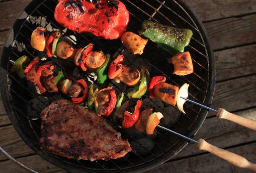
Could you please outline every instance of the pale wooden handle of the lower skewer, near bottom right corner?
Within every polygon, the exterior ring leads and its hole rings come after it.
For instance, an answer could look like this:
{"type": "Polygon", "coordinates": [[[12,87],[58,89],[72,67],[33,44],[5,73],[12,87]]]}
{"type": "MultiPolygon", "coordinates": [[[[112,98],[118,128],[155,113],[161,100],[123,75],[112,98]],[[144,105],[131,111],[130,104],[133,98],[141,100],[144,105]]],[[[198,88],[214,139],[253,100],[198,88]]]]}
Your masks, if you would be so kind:
{"type": "Polygon", "coordinates": [[[199,148],[200,150],[208,151],[208,152],[228,161],[229,163],[231,163],[235,166],[238,166],[240,168],[249,169],[249,170],[253,171],[254,173],[256,173],[256,164],[249,162],[246,158],[244,158],[238,154],[235,154],[230,151],[227,151],[227,150],[218,148],[214,145],[211,145],[211,144],[207,143],[204,139],[198,140],[197,148],[199,148]]]}

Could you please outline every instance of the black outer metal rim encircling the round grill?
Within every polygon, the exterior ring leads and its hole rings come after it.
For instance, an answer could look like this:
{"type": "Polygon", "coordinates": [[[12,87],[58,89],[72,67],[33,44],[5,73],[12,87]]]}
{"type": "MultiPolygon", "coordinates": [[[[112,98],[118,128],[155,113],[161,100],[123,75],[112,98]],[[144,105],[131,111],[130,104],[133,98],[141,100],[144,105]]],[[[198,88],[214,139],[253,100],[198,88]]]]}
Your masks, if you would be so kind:
{"type": "MultiPolygon", "coordinates": [[[[40,0],[40,1],[42,1],[42,0],[40,0]]],[[[215,76],[216,76],[213,49],[210,45],[207,32],[206,32],[205,28],[203,27],[202,22],[200,21],[200,19],[195,14],[195,12],[191,9],[191,7],[188,4],[184,3],[182,0],[176,0],[176,1],[185,9],[185,11],[193,19],[193,21],[197,25],[197,27],[198,27],[198,29],[199,29],[202,37],[203,37],[203,41],[206,45],[207,54],[208,54],[208,57],[209,57],[209,85],[208,85],[208,88],[207,88],[208,92],[207,92],[207,95],[205,97],[205,104],[206,104],[206,106],[210,106],[211,103],[212,103],[212,99],[213,99],[214,88],[215,88],[215,76]]],[[[36,6],[36,4],[38,4],[38,0],[32,0],[24,8],[24,10],[27,11],[27,12],[31,12],[34,9],[34,6],[36,6]]],[[[26,17],[26,12],[24,10],[21,11],[21,13],[18,15],[17,19],[23,19],[23,18],[26,17]]],[[[8,47],[6,47],[5,45],[9,40],[13,40],[13,37],[14,37],[13,36],[13,28],[17,28],[18,26],[20,26],[20,23],[17,21],[17,19],[15,20],[15,22],[12,25],[12,28],[8,32],[7,38],[5,40],[5,44],[3,45],[2,54],[1,54],[1,57],[0,57],[1,62],[3,61],[4,57],[6,57],[8,55],[8,53],[10,53],[10,49],[8,47]]],[[[0,64],[0,65],[1,65],[1,67],[4,66],[3,64],[0,64]]],[[[3,101],[3,104],[4,104],[5,111],[7,112],[8,117],[9,117],[14,129],[17,131],[17,133],[20,135],[20,137],[24,140],[24,142],[33,151],[35,151],[35,153],[39,154],[42,158],[44,158],[48,162],[50,162],[50,163],[52,163],[52,164],[54,164],[54,165],[56,165],[56,166],[58,166],[62,169],[65,169],[67,171],[74,172],[74,173],[85,172],[84,169],[75,167],[71,164],[67,165],[66,162],[60,161],[60,160],[56,159],[53,155],[48,154],[48,153],[44,152],[43,150],[37,148],[37,144],[34,143],[31,140],[31,138],[28,134],[25,134],[23,132],[24,127],[16,119],[16,116],[15,116],[15,113],[14,113],[14,108],[13,108],[14,106],[12,104],[12,100],[11,100],[11,97],[9,95],[9,90],[8,90],[8,74],[2,68],[0,68],[0,76],[1,76],[0,82],[2,84],[1,87],[0,87],[0,90],[1,90],[1,96],[2,96],[2,101],[3,101]]],[[[200,114],[200,117],[198,117],[196,119],[195,123],[193,124],[193,126],[191,127],[189,132],[186,134],[188,137],[193,137],[197,133],[197,131],[200,129],[202,123],[204,122],[204,120],[207,116],[207,113],[208,113],[207,110],[202,111],[202,113],[200,114]]],[[[179,151],[181,151],[187,144],[188,144],[188,142],[185,139],[181,139],[175,145],[175,147],[173,147],[173,150],[175,152],[168,151],[164,155],[162,155],[162,157],[159,157],[159,158],[155,159],[154,161],[145,163],[145,164],[143,164],[141,166],[137,166],[135,168],[124,169],[124,170],[119,170],[119,171],[114,171],[114,172],[133,173],[135,171],[136,172],[148,171],[148,170],[150,170],[154,167],[159,166],[160,164],[163,164],[163,163],[167,162],[169,159],[171,159],[172,156],[174,156],[179,151]]],[[[98,173],[99,171],[90,170],[89,172],[98,173]]],[[[103,172],[113,172],[113,171],[103,171],[103,172]]]]}

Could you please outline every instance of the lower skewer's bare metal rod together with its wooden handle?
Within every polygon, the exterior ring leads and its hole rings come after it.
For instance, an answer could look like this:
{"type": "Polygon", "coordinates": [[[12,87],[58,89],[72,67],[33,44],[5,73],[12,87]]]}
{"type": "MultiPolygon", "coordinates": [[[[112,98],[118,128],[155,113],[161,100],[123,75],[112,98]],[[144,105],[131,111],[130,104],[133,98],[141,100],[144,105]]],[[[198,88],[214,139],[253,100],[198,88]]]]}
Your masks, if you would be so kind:
{"type": "MultiPolygon", "coordinates": [[[[128,111],[126,111],[128,112],[128,111]]],[[[131,112],[128,112],[129,114],[132,114],[131,112]]],[[[231,113],[230,113],[231,114],[231,113]]],[[[254,173],[256,173],[256,164],[253,164],[251,162],[249,162],[246,158],[238,155],[238,154],[235,154],[235,153],[232,153],[230,151],[227,151],[227,150],[224,150],[222,148],[219,148],[219,147],[216,147],[212,144],[209,144],[208,142],[206,142],[204,139],[199,139],[198,141],[197,140],[194,140],[194,139],[191,139],[187,136],[184,136],[176,131],[173,131],[173,130],[170,130],[170,129],[167,129],[163,126],[160,126],[160,125],[157,125],[158,128],[160,129],[163,129],[163,130],[166,130],[168,132],[171,132],[175,135],[178,135],[184,139],[187,139],[187,140],[190,140],[194,143],[196,143],[196,147],[199,149],[199,150],[205,150],[205,151],[208,151],[224,160],[226,160],[227,162],[235,165],[235,166],[238,166],[240,168],[245,168],[245,169],[249,169],[251,171],[253,171],[254,173]]]]}

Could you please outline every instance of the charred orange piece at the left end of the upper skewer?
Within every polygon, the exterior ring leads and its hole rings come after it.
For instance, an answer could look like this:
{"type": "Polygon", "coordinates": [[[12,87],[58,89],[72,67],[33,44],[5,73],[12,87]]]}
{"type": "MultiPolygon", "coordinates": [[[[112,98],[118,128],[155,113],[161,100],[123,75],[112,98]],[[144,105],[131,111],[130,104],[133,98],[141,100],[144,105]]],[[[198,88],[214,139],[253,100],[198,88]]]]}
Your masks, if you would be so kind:
{"type": "Polygon", "coordinates": [[[37,27],[32,32],[30,44],[34,49],[44,51],[48,37],[48,32],[45,28],[37,27]]]}

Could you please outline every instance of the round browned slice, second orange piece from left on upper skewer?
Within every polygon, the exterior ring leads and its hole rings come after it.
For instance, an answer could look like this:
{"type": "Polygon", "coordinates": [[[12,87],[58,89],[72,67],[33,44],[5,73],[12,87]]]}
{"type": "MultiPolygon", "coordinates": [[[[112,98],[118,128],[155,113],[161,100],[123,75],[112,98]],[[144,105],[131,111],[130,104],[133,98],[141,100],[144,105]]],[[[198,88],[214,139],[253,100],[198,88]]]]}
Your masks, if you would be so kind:
{"type": "Polygon", "coordinates": [[[62,41],[57,44],[56,56],[62,59],[67,59],[73,55],[73,52],[74,52],[74,48],[72,43],[62,41]]]}

